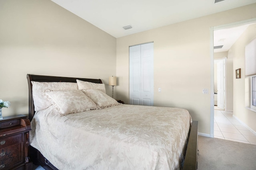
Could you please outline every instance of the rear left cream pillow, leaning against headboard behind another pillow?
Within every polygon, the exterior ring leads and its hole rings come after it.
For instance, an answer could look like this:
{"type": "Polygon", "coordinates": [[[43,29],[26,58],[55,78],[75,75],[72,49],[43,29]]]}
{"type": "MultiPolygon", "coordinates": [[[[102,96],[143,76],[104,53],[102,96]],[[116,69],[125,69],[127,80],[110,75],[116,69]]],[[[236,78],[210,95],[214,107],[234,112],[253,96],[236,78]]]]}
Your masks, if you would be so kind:
{"type": "Polygon", "coordinates": [[[71,82],[34,82],[32,83],[32,94],[35,111],[46,109],[52,103],[47,100],[44,90],[77,90],[77,84],[71,82]]]}

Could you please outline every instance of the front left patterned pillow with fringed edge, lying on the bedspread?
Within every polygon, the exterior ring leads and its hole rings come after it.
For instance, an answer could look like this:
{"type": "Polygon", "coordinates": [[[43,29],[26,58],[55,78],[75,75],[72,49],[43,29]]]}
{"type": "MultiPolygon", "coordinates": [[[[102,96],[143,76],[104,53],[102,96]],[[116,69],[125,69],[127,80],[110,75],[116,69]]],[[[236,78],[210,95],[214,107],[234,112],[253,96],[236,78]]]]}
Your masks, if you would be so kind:
{"type": "Polygon", "coordinates": [[[60,115],[68,115],[80,111],[96,109],[97,106],[81,90],[45,90],[47,98],[58,110],[60,115]]]}

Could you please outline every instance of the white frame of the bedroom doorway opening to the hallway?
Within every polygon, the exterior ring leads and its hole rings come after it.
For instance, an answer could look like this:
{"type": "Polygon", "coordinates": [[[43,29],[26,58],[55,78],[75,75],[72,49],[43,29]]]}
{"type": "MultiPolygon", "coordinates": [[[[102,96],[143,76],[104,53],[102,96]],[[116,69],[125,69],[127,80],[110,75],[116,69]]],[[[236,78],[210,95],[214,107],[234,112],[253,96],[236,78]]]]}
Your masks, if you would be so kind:
{"type": "MultiPolygon", "coordinates": [[[[218,29],[224,29],[228,27],[235,27],[248,23],[255,23],[256,18],[249,20],[243,20],[215,27],[210,27],[210,61],[211,61],[211,85],[210,85],[210,137],[214,137],[214,49],[213,49],[213,31],[218,29]]],[[[226,108],[225,108],[226,109],[226,108]]]]}

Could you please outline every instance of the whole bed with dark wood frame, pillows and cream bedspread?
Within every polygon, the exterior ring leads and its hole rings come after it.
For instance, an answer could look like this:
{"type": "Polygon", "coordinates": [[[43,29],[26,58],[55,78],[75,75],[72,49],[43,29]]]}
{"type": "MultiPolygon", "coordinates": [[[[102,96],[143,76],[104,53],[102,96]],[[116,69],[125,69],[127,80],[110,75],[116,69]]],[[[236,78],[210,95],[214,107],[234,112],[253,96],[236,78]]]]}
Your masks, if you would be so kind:
{"type": "Polygon", "coordinates": [[[100,79],[27,79],[34,164],[49,170],[197,169],[198,122],[187,110],[120,104],[100,79]]]}

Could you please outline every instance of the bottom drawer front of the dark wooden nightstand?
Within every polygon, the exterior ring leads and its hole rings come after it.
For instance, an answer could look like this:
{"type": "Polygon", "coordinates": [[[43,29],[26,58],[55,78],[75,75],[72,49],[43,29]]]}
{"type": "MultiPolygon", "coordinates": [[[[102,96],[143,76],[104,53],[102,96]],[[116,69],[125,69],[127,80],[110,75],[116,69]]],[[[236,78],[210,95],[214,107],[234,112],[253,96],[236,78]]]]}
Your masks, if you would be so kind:
{"type": "Polygon", "coordinates": [[[8,170],[10,167],[23,163],[23,150],[23,143],[0,149],[0,169],[8,170]]]}

